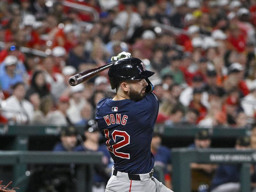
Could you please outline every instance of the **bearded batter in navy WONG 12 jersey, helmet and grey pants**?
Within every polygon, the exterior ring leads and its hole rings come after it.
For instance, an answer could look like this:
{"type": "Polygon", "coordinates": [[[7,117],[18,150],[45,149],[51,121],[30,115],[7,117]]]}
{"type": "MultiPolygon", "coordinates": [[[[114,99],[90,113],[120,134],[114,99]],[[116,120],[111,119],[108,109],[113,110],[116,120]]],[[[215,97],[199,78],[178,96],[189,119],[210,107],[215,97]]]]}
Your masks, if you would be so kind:
{"type": "Polygon", "coordinates": [[[150,143],[159,109],[148,80],[153,74],[130,54],[109,68],[116,95],[101,99],[96,108],[98,128],[114,160],[106,192],[172,192],[152,176],[150,143]]]}

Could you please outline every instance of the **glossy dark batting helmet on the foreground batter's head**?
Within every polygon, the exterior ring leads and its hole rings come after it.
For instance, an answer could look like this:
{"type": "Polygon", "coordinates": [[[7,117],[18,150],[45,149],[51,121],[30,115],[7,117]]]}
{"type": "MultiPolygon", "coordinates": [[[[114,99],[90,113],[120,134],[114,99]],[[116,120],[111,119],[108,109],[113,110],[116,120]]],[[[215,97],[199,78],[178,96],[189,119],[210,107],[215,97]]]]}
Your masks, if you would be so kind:
{"type": "Polygon", "coordinates": [[[140,59],[132,57],[117,60],[108,70],[112,89],[115,89],[120,81],[145,79],[154,74],[155,72],[146,70],[140,59]]]}

